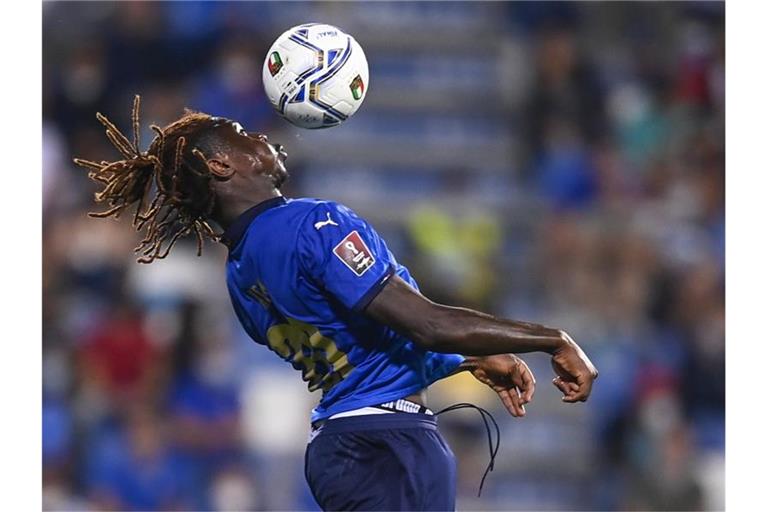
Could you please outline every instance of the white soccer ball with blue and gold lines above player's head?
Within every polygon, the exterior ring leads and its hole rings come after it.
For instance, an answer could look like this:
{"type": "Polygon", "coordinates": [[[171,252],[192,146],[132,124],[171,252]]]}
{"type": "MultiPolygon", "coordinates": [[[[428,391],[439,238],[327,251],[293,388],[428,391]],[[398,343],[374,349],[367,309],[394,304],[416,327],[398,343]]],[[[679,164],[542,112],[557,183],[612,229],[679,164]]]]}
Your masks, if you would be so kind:
{"type": "Polygon", "coordinates": [[[301,128],[338,126],[368,92],[368,61],[355,38],[332,25],[285,31],[267,52],[264,90],[275,110],[301,128]]]}

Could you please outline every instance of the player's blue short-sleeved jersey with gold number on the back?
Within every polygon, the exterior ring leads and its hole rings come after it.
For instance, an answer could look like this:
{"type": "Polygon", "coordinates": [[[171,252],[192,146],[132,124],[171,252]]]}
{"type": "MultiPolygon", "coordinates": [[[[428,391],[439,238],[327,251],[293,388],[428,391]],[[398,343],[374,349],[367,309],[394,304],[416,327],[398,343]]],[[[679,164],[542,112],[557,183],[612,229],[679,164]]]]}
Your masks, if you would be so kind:
{"type": "Polygon", "coordinates": [[[424,350],[363,313],[393,275],[417,285],[349,208],[277,197],[246,211],[224,239],[235,313],[310,391],[322,391],[312,421],[404,398],[464,360],[424,350]]]}

